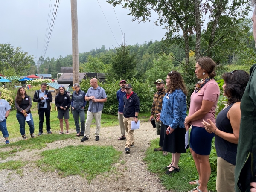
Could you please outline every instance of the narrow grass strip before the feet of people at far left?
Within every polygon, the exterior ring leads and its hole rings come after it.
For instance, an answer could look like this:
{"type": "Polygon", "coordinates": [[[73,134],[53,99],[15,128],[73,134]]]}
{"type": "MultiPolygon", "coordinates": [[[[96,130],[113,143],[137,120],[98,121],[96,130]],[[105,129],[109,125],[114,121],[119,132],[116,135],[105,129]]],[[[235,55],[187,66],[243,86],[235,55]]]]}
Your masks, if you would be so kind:
{"type": "MultiPolygon", "coordinates": [[[[31,138],[28,140],[20,140],[20,141],[16,141],[16,142],[11,142],[9,145],[0,145],[0,148],[16,147],[12,150],[12,153],[15,153],[17,151],[24,151],[26,149],[40,150],[40,149],[46,147],[47,143],[52,143],[57,140],[65,140],[68,138],[74,139],[74,138],[76,138],[76,134],[61,134],[61,135],[59,135],[59,134],[43,134],[41,136],[38,136],[37,138],[31,138]]],[[[2,153],[5,153],[5,152],[2,152],[2,153]]],[[[7,151],[7,153],[10,153],[10,151],[7,151]]]]}

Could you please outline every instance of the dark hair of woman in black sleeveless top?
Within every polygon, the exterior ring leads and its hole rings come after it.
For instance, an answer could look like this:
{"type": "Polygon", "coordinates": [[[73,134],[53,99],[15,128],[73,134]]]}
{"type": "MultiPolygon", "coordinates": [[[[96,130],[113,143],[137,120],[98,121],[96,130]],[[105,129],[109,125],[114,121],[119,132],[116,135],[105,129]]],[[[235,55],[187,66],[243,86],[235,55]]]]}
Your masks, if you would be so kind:
{"type": "Polygon", "coordinates": [[[227,96],[227,104],[240,102],[250,79],[249,74],[244,70],[234,70],[224,73],[222,79],[226,84],[224,93],[227,96]]]}

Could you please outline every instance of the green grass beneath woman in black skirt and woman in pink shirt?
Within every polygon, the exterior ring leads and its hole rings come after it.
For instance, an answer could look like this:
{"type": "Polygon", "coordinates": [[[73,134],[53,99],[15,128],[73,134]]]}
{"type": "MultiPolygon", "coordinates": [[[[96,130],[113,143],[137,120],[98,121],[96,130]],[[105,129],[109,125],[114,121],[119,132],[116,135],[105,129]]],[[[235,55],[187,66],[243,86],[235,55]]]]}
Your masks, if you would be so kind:
{"type": "MultiPolygon", "coordinates": [[[[172,174],[172,177],[170,177],[165,174],[166,170],[164,168],[171,163],[172,155],[168,153],[168,156],[163,156],[162,152],[155,152],[154,148],[159,148],[158,144],[159,139],[152,140],[151,146],[145,153],[146,157],[143,160],[147,162],[148,170],[159,175],[161,182],[167,190],[186,192],[195,188],[195,186],[189,184],[189,181],[198,180],[198,172],[189,149],[187,153],[181,154],[179,161],[180,172],[172,174]]],[[[214,178],[210,178],[207,190],[216,192],[216,181],[214,178]]]]}

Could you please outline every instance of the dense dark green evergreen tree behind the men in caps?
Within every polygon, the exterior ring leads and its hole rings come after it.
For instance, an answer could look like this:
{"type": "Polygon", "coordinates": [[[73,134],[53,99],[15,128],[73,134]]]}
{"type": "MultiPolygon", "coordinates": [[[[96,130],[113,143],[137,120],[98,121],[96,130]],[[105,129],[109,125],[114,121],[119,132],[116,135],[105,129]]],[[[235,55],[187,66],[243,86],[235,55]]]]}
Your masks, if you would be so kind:
{"type": "Polygon", "coordinates": [[[128,47],[123,44],[116,47],[116,55],[111,59],[111,67],[108,69],[108,79],[131,79],[136,75],[136,54],[130,54],[128,47]]]}

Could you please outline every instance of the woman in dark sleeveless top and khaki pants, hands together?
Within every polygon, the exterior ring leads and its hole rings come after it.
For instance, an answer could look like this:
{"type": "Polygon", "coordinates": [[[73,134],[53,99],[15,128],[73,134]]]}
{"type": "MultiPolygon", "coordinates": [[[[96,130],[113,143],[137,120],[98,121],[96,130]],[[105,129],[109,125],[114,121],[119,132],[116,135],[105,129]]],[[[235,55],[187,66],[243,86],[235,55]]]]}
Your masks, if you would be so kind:
{"type": "Polygon", "coordinates": [[[240,101],[249,81],[249,74],[243,70],[224,73],[223,95],[227,96],[227,105],[218,113],[216,125],[211,120],[203,120],[203,125],[209,133],[215,133],[215,148],[217,152],[218,192],[235,192],[235,165],[237,144],[240,130],[240,101]]]}

